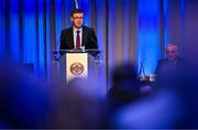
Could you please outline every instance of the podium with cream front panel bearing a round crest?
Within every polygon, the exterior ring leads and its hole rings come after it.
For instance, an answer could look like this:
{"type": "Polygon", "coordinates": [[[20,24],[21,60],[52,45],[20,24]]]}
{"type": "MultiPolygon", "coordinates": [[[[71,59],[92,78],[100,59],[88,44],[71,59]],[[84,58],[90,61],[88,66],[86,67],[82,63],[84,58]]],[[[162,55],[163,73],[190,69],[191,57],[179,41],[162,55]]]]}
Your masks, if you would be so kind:
{"type": "MultiPolygon", "coordinates": [[[[59,58],[59,74],[63,82],[68,83],[75,77],[88,78],[97,77],[98,65],[96,55],[98,50],[78,51],[78,50],[64,50],[61,51],[59,58]]],[[[99,54],[99,51],[98,51],[99,54]]]]}

